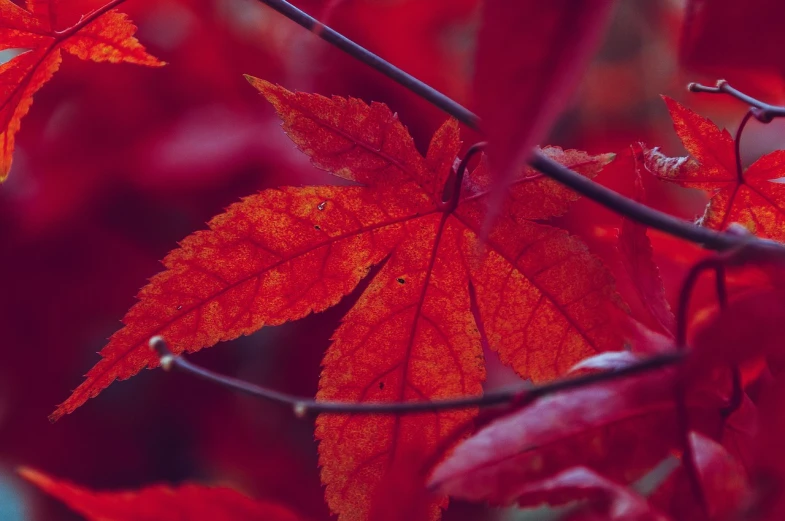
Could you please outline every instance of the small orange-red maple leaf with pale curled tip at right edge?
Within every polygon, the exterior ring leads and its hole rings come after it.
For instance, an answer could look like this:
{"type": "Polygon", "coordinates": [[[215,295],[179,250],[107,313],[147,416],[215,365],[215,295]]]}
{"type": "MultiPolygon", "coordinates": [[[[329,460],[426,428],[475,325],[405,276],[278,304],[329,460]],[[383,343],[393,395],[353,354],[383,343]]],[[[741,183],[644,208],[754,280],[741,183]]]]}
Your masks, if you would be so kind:
{"type": "Polygon", "coordinates": [[[646,151],[647,169],[665,181],[712,193],[701,224],[717,230],[738,222],[759,237],[785,241],[785,151],[740,172],[727,130],[665,97],[676,134],[692,157],[667,158],[646,151]]]}

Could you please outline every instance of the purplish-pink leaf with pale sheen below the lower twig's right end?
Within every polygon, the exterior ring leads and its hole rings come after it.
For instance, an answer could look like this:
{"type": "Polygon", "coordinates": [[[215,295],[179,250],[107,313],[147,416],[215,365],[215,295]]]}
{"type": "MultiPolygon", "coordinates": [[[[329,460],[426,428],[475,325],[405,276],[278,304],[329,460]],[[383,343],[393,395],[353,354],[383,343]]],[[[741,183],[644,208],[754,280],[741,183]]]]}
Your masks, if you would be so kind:
{"type": "MultiPolygon", "coordinates": [[[[673,382],[674,372],[661,370],[537,400],[458,445],[431,485],[454,497],[505,504],[525,484],[576,465],[631,483],[680,449],[673,382]]],[[[693,427],[714,432],[725,403],[716,393],[690,393],[693,427]]]]}

